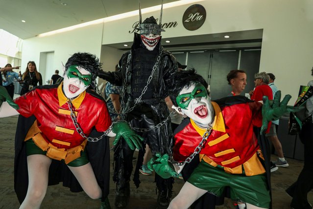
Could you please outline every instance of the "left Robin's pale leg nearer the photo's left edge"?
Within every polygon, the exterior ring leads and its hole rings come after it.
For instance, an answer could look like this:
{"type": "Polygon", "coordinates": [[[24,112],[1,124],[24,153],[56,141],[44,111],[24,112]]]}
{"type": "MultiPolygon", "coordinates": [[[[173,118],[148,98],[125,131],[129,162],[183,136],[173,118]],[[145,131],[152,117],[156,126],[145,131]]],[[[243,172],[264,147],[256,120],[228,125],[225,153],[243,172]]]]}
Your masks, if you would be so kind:
{"type": "Polygon", "coordinates": [[[27,156],[28,188],[20,209],[39,209],[48,188],[51,159],[44,155],[27,156]]]}

